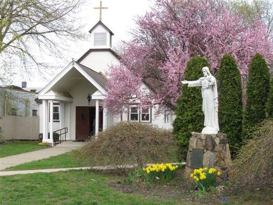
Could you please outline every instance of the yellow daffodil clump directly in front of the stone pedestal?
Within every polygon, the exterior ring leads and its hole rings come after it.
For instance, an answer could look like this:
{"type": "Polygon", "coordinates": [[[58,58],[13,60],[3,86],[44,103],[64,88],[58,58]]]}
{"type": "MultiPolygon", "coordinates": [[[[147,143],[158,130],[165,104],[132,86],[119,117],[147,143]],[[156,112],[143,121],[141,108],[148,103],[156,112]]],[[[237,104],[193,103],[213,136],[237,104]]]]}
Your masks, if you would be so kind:
{"type": "Polygon", "coordinates": [[[199,190],[207,191],[208,188],[216,185],[216,177],[221,176],[221,172],[216,171],[214,168],[200,168],[195,169],[191,174],[199,190]]]}

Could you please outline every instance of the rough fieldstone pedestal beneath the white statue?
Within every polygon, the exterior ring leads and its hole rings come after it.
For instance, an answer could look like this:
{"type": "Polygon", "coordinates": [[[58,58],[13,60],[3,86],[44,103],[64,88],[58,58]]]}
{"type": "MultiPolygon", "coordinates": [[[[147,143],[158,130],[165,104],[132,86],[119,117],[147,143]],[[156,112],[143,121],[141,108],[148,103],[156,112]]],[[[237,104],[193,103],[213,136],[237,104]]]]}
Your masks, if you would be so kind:
{"type": "Polygon", "coordinates": [[[190,177],[194,169],[198,169],[192,166],[194,164],[192,163],[193,149],[203,149],[201,165],[203,168],[215,168],[222,173],[222,178],[226,178],[227,168],[232,163],[226,134],[201,134],[192,132],[184,171],[186,178],[190,177]]]}

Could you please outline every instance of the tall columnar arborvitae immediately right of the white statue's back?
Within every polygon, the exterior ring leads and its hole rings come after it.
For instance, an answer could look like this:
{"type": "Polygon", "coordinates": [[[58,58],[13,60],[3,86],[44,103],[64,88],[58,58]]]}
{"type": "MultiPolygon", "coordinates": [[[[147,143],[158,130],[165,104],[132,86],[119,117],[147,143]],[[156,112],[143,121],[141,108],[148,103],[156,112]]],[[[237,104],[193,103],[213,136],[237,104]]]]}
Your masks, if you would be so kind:
{"type": "Polygon", "coordinates": [[[226,133],[232,154],[236,154],[242,141],[242,83],[235,59],[224,55],[218,70],[219,127],[226,133]]]}

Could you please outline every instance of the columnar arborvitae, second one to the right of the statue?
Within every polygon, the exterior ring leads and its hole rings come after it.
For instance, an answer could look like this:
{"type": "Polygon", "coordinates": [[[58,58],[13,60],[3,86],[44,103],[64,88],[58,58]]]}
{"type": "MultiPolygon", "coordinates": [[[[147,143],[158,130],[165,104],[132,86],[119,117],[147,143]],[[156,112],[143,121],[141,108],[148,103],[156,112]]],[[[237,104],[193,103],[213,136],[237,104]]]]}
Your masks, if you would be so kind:
{"type": "Polygon", "coordinates": [[[243,136],[265,118],[265,105],[269,93],[269,69],[260,53],[254,55],[248,70],[246,106],[243,118],[243,136]]]}

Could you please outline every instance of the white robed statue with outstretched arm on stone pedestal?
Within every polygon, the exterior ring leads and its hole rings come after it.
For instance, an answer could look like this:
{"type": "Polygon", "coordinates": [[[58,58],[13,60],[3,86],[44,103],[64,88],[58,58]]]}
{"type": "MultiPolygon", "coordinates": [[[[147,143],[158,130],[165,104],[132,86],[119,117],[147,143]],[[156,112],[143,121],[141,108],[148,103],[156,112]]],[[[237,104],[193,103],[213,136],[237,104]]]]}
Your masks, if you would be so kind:
{"type": "Polygon", "coordinates": [[[205,115],[203,134],[217,134],[219,132],[218,125],[218,93],[216,79],[209,72],[208,67],[203,67],[204,77],[200,77],[195,81],[182,80],[182,84],[188,84],[188,87],[201,86],[203,105],[202,110],[205,115]]]}

